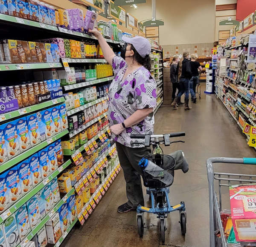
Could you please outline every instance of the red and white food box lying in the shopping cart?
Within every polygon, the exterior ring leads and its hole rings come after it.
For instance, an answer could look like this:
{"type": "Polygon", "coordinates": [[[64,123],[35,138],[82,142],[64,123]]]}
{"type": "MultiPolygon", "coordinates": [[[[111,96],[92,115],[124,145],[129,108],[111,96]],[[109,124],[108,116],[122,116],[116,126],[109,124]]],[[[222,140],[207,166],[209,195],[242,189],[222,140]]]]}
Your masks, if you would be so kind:
{"type": "Polygon", "coordinates": [[[256,184],[230,186],[236,241],[256,241],[256,184]]]}

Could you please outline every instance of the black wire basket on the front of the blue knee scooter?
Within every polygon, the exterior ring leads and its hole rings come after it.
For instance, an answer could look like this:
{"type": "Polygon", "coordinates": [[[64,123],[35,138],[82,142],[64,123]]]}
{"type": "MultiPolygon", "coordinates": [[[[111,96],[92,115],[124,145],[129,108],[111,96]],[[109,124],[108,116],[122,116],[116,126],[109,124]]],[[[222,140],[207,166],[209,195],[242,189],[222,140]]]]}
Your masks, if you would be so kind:
{"type": "Polygon", "coordinates": [[[141,169],[144,186],[150,188],[166,188],[171,186],[174,179],[175,159],[164,154],[150,154],[144,158],[154,162],[163,169],[161,171],[151,171],[150,174],[141,169]]]}

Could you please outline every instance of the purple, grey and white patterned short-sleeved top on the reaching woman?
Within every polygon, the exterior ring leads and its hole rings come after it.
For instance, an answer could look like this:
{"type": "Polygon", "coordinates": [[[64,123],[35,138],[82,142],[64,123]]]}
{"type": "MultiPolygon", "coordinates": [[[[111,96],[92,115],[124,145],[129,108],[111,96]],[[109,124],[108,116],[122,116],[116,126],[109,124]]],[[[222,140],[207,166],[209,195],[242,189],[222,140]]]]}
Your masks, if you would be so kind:
{"type": "MultiPolygon", "coordinates": [[[[138,109],[152,108],[156,102],[156,82],[150,72],[140,67],[123,78],[128,67],[121,57],[113,57],[114,78],[109,88],[108,119],[110,126],[122,123],[138,109]]],[[[126,128],[118,136],[112,134],[116,142],[130,148],[140,148],[144,145],[131,145],[144,142],[144,139],[131,139],[131,134],[153,134],[154,113],[149,114],[137,125],[126,128]]]]}

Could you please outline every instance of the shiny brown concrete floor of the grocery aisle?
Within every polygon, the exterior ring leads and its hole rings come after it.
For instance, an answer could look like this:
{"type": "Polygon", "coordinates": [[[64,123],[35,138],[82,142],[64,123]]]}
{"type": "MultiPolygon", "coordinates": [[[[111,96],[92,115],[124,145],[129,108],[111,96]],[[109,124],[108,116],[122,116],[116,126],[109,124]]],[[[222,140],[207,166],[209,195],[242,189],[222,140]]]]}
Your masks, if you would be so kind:
{"type": "MultiPolygon", "coordinates": [[[[170,213],[167,219],[166,242],[160,243],[158,219],[144,214],[146,228],[143,238],[137,233],[136,212],[117,213],[117,207],[126,202],[125,180],[119,173],[99,205],[83,227],[76,226],[67,236],[63,246],[85,247],[207,247],[209,246],[209,206],[208,182],[205,161],[213,156],[255,157],[241,130],[221,101],[215,95],[203,93],[202,99],[193,104],[191,111],[183,106],[173,111],[162,106],[155,116],[155,133],[186,131],[180,139],[185,143],[164,148],[165,153],[184,151],[189,162],[189,172],[175,172],[175,180],[170,187],[171,203],[185,201],[187,212],[187,234],[180,233],[178,213],[170,213]]],[[[190,103],[191,105],[191,103],[190,103]]],[[[250,165],[216,165],[216,170],[224,172],[255,174],[256,167],[250,165]]],[[[224,193],[224,207],[229,205],[228,191],[224,193]],[[225,198],[224,198],[225,199],[225,198]]],[[[148,202],[148,196],[145,195],[148,202]]]]}

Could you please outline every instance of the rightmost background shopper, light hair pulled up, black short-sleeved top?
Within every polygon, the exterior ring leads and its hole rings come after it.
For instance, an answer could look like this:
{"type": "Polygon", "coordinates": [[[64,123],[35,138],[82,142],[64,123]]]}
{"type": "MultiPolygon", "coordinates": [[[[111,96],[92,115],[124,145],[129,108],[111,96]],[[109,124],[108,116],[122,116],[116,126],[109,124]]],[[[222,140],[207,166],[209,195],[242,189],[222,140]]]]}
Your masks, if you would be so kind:
{"type": "Polygon", "coordinates": [[[196,54],[191,54],[191,60],[190,60],[190,65],[191,65],[191,72],[192,72],[192,78],[189,80],[189,92],[191,94],[191,100],[196,103],[196,85],[198,84],[198,69],[199,71],[202,71],[202,66],[200,65],[200,62],[196,61],[197,55],[196,54]]]}

